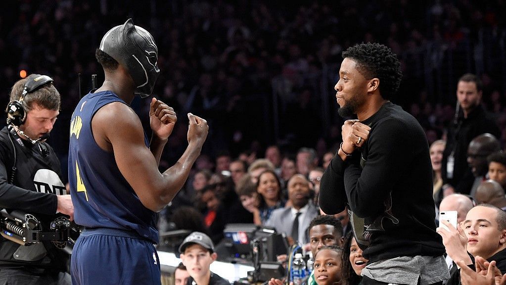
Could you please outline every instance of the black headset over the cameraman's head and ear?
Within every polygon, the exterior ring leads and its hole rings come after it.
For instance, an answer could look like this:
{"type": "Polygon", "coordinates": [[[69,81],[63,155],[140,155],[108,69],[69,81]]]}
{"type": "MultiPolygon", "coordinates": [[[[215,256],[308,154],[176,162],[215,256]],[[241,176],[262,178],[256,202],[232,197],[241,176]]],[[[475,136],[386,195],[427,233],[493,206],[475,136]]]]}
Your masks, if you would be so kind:
{"type": "Polygon", "coordinates": [[[7,105],[5,110],[7,113],[7,124],[12,124],[17,127],[23,125],[26,120],[26,110],[23,107],[23,99],[25,99],[26,94],[31,93],[51,82],[53,82],[53,78],[48,75],[31,74],[28,76],[19,99],[13,100],[7,105]]]}

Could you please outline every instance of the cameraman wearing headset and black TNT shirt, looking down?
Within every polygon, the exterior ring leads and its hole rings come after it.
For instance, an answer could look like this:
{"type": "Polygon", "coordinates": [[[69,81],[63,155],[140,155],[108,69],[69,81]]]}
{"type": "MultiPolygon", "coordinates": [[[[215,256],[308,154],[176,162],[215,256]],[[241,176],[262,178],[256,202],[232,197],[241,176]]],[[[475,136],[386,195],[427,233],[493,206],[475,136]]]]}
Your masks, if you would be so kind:
{"type": "MultiPolygon", "coordinates": [[[[57,212],[73,220],[60,162],[45,140],[60,110],[53,79],[31,74],[12,87],[7,127],[0,131],[0,208],[32,214],[44,231],[57,212]]],[[[61,216],[60,214],[60,216],[61,216]]],[[[68,255],[51,241],[21,246],[0,236],[0,284],[70,284],[68,255]]]]}

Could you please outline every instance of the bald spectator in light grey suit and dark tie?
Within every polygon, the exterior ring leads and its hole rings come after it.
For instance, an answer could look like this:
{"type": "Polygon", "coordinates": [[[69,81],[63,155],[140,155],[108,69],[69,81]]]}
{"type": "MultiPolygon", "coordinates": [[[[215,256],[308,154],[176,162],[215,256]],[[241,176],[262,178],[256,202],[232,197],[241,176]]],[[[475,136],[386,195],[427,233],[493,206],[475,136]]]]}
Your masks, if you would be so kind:
{"type": "Polygon", "coordinates": [[[318,215],[318,207],[310,199],[309,181],[304,175],[296,174],[288,180],[288,200],[291,206],[274,210],[266,225],[305,245],[309,242],[306,229],[318,215]]]}

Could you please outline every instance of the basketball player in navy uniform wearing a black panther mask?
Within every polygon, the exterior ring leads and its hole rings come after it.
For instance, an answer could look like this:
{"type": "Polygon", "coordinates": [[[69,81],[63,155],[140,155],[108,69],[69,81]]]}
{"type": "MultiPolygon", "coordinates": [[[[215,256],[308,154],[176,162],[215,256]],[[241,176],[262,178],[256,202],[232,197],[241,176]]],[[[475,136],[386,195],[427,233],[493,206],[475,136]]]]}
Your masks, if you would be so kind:
{"type": "Polygon", "coordinates": [[[109,30],[95,54],[103,85],[72,115],[69,183],[76,223],[86,228],[72,254],[72,283],[160,284],[155,212],[184,185],[207,136],[207,122],[188,113],[188,147],[163,173],[158,162],[177,117],[152,99],[151,142],[130,108],[147,97],[159,73],[152,35],[132,19],[109,30]]]}

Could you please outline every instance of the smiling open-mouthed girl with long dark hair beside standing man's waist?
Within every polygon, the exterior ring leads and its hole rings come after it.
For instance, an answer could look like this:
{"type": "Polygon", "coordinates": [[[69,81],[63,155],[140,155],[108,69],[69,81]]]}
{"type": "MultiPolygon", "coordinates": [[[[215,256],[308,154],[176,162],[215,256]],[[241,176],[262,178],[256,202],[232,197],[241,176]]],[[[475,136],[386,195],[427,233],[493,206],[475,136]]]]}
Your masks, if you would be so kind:
{"type": "Polygon", "coordinates": [[[342,285],[358,285],[362,282],[362,269],[367,265],[367,259],[362,256],[353,232],[349,232],[343,241],[343,254],[341,255],[342,285]]]}

